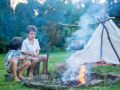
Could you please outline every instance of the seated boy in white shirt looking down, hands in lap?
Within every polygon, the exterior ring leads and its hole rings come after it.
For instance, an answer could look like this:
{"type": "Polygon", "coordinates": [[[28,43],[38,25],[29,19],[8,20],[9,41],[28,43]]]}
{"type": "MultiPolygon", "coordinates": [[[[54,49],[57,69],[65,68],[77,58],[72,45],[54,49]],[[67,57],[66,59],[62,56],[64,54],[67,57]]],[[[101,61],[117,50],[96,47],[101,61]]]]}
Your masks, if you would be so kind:
{"type": "Polygon", "coordinates": [[[35,39],[37,28],[34,25],[27,27],[27,38],[23,41],[22,52],[26,56],[26,59],[31,60],[31,66],[29,76],[33,76],[34,66],[38,61],[43,61],[43,74],[46,74],[46,55],[39,55],[40,45],[37,39],[35,39]]]}

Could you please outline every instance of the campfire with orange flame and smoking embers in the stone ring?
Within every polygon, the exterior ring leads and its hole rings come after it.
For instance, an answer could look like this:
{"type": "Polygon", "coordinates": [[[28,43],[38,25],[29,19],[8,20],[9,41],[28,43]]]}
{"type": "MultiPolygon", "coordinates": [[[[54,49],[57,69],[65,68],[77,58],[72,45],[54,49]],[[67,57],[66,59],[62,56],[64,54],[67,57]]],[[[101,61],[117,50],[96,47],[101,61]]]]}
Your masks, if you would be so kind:
{"type": "Polygon", "coordinates": [[[63,75],[62,84],[66,86],[76,86],[76,85],[85,85],[88,77],[87,67],[86,65],[81,65],[79,71],[74,72],[69,71],[66,72],[67,75],[63,75]]]}

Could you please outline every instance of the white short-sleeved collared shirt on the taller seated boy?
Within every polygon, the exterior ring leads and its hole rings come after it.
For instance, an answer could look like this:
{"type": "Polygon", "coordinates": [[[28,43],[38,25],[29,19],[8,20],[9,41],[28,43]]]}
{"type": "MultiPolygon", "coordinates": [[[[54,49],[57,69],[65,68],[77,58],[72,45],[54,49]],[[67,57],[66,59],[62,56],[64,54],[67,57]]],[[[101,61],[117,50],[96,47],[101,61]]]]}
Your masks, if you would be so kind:
{"type": "Polygon", "coordinates": [[[40,50],[40,45],[37,39],[35,39],[34,43],[31,44],[28,38],[26,38],[22,43],[21,52],[36,52],[38,49],[40,50]]]}

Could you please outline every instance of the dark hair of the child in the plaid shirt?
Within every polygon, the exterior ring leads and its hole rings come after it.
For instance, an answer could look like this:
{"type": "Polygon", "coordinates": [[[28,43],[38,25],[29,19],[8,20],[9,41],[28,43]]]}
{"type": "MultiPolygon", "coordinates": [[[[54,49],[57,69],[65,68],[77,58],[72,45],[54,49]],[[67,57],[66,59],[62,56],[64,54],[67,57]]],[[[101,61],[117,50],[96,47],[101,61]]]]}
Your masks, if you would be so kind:
{"type": "Polygon", "coordinates": [[[18,49],[21,49],[22,42],[23,42],[23,40],[22,40],[21,37],[14,37],[14,38],[10,41],[9,49],[10,49],[10,50],[18,50],[18,49]]]}

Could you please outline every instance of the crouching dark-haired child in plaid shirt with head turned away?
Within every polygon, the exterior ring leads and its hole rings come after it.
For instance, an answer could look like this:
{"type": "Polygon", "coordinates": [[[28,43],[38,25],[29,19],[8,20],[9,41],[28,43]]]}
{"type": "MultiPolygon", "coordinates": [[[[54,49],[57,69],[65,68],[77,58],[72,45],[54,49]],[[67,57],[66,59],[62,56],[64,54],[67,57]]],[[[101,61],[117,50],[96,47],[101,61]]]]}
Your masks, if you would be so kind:
{"type": "Polygon", "coordinates": [[[22,46],[22,39],[15,37],[10,41],[9,52],[5,57],[5,69],[8,73],[13,73],[14,80],[20,81],[23,77],[23,72],[30,65],[30,61],[25,61],[20,49],[22,46]]]}

